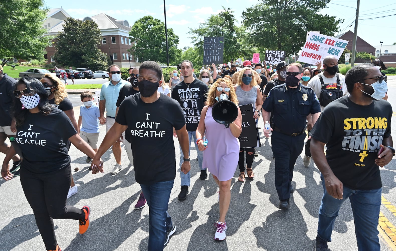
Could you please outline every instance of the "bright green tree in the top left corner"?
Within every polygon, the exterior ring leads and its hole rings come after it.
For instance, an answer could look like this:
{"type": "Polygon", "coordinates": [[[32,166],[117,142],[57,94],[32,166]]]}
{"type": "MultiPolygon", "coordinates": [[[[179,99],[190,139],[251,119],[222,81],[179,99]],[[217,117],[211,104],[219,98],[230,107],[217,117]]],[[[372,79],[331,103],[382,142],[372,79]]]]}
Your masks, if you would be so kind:
{"type": "Polygon", "coordinates": [[[48,37],[43,21],[46,10],[42,0],[6,0],[0,4],[0,58],[2,66],[8,59],[44,59],[48,37]]]}

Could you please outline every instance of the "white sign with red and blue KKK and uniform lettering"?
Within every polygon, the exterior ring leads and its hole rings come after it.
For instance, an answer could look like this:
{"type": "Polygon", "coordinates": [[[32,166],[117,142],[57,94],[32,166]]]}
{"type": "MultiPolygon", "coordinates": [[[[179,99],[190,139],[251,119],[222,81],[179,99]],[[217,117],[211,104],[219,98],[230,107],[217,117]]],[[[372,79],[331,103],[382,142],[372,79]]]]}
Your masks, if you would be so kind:
{"type": "Polygon", "coordinates": [[[298,61],[314,65],[326,56],[334,56],[338,60],[347,44],[346,40],[311,32],[301,48],[298,61]]]}

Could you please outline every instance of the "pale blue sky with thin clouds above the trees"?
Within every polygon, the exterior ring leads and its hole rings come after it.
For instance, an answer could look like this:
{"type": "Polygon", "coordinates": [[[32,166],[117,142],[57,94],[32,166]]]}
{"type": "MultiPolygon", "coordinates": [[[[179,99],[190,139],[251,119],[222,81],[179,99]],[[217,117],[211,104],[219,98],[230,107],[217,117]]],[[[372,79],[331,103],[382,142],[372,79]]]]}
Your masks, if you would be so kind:
{"type": "MultiPolygon", "coordinates": [[[[114,2],[105,0],[89,1],[84,4],[80,0],[44,0],[47,8],[62,8],[74,18],[84,18],[98,13],[105,13],[116,19],[126,19],[132,26],[133,23],[145,16],[164,21],[163,0],[117,0],[114,2]]],[[[192,46],[188,28],[196,29],[199,23],[204,22],[211,14],[217,14],[222,10],[221,6],[230,7],[240,25],[242,11],[247,7],[261,2],[259,0],[222,0],[222,1],[176,1],[166,0],[166,21],[168,28],[172,28],[180,38],[179,48],[192,46]],[[203,4],[204,3],[204,4],[203,4]]],[[[332,0],[329,8],[320,11],[321,14],[335,15],[345,19],[340,25],[343,32],[354,31],[356,15],[356,0],[332,0]],[[342,6],[341,6],[342,5],[342,6]],[[346,7],[348,6],[348,7],[346,7]],[[352,24],[351,27],[348,27],[352,24]]],[[[366,40],[372,46],[390,45],[396,42],[396,15],[369,20],[371,17],[380,17],[396,14],[396,2],[394,0],[360,1],[360,17],[358,22],[358,36],[366,40]],[[366,20],[363,20],[366,19],[366,20]]]]}

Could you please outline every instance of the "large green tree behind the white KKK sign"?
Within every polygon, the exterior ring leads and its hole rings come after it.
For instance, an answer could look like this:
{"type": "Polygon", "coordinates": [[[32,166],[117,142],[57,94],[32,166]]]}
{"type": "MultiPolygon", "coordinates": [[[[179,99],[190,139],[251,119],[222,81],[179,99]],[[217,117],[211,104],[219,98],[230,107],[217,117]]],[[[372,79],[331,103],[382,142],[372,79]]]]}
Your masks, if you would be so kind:
{"type": "Polygon", "coordinates": [[[249,41],[261,52],[284,50],[296,54],[304,45],[307,31],[334,36],[343,19],[320,15],[330,0],[261,0],[242,11],[243,24],[249,30],[249,41]]]}

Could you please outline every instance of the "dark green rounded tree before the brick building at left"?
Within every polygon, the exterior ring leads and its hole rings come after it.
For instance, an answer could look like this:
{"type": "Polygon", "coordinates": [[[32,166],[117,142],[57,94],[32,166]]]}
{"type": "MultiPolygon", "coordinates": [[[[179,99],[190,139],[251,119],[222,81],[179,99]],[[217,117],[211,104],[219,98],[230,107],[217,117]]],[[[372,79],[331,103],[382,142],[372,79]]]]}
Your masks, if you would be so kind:
{"type": "Polygon", "coordinates": [[[56,36],[54,59],[60,65],[75,65],[93,71],[104,70],[107,54],[99,50],[101,32],[97,23],[68,18],[56,36]]]}

